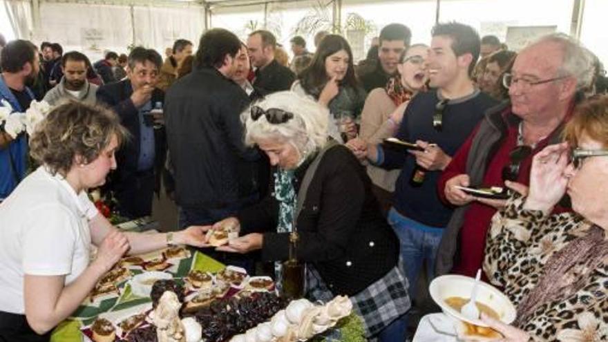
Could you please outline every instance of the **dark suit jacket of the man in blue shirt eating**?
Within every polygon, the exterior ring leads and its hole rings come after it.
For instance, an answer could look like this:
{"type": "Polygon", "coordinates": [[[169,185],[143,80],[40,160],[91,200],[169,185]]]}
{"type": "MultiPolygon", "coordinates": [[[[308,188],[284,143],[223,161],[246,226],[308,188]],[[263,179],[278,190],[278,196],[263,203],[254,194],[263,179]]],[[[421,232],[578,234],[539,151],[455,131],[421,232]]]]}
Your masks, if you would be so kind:
{"type": "MultiPolygon", "coordinates": [[[[133,187],[137,178],[137,162],[140,158],[140,115],[139,110],[131,101],[133,86],[129,79],[120,82],[105,84],[97,89],[97,102],[106,104],[114,109],[120,116],[121,124],[131,133],[131,137],[116,152],[117,169],[111,173],[108,188],[118,192],[132,193],[128,191],[133,187]],[[126,189],[127,191],[122,191],[126,189]]],[[[151,103],[164,102],[164,93],[160,89],[154,89],[151,103]]],[[[154,189],[160,190],[160,176],[167,156],[167,137],[165,129],[154,130],[155,159],[154,159],[154,189]]],[[[127,197],[131,197],[128,195],[127,197]]],[[[129,207],[128,198],[119,198],[126,207],[129,207]]],[[[133,198],[132,200],[137,200],[133,198]]]]}

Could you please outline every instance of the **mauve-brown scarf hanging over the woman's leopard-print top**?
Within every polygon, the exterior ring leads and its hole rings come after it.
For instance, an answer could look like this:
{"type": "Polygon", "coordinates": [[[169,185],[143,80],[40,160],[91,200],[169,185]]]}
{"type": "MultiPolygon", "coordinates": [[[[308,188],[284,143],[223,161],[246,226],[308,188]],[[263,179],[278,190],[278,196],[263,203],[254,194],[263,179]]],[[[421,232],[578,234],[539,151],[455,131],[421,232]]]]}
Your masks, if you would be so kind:
{"type": "Polygon", "coordinates": [[[585,236],[571,240],[549,258],[538,284],[517,305],[515,326],[526,325],[538,307],[576,294],[607,259],[605,230],[593,225],[585,236]]]}

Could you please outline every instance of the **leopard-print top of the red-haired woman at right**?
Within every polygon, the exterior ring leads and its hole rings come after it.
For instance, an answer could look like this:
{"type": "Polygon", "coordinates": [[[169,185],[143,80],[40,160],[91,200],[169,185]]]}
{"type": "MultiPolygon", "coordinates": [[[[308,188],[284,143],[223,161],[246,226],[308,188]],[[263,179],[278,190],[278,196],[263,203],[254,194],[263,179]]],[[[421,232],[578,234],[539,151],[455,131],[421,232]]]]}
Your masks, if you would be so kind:
{"type": "MultiPolygon", "coordinates": [[[[549,216],[524,210],[519,195],[492,218],[484,271],[517,306],[538,283],[543,267],[591,223],[576,213],[549,216]]],[[[578,269],[580,271],[580,269],[578,269]]],[[[564,277],[578,277],[577,267],[564,277]]],[[[531,341],[608,341],[608,260],[591,272],[588,285],[569,298],[540,305],[519,328],[531,341]]]]}

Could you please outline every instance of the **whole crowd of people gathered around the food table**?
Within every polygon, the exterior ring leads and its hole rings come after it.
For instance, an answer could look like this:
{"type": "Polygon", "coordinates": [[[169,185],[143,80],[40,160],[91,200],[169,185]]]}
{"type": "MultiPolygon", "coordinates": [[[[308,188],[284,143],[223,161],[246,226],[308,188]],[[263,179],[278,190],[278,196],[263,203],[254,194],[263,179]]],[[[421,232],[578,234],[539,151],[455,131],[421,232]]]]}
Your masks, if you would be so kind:
{"type": "Polygon", "coordinates": [[[121,256],[165,245],[280,284],[293,231],[305,296],[350,296],[367,339],[410,339],[417,284],[478,269],[517,308],[484,317],[504,341],[608,339],[608,95],[589,49],[555,33],[515,53],[457,22],[413,44],[392,23],[359,64],[341,35],[290,43],[290,62],[267,30],[207,30],[164,61],[1,46],[1,106],[53,109],[31,135],[0,121],[0,341],[48,341],[121,256]],[[164,189],[179,230],[124,234],[95,188],[125,218],[164,189]],[[210,247],[224,225],[238,238],[210,247]]]}

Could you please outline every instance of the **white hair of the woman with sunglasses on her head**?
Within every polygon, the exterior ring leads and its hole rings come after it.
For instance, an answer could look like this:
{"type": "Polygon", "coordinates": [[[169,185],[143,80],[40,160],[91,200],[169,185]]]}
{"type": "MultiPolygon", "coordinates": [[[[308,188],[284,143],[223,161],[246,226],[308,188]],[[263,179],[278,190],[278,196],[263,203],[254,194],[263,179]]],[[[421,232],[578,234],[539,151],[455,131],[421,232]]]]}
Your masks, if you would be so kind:
{"type": "Polygon", "coordinates": [[[327,143],[327,124],[330,113],[327,108],[301,97],[292,91],[281,91],[266,96],[258,106],[264,111],[269,108],[281,109],[293,114],[293,118],[284,123],[268,122],[265,115],[254,120],[251,117],[251,107],[241,114],[245,124],[245,144],[252,146],[256,140],[276,140],[294,144],[301,155],[307,155],[316,149],[321,149],[327,143]]]}

